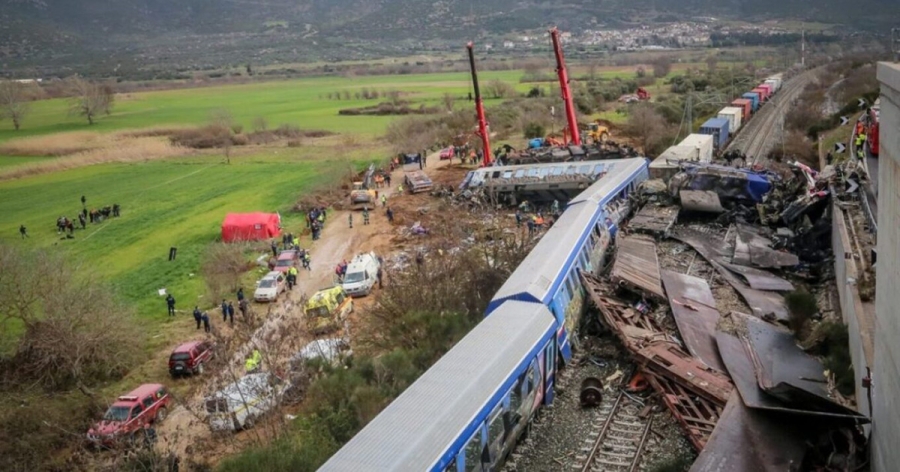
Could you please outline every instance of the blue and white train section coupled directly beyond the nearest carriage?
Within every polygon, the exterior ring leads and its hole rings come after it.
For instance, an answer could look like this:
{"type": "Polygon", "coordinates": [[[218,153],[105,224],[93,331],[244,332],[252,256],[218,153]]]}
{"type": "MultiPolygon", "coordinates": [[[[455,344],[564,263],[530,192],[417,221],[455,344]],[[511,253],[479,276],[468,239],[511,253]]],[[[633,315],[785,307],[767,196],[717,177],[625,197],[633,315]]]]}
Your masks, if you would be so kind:
{"type": "Polygon", "coordinates": [[[578,271],[597,273],[603,255],[627,214],[628,195],[649,178],[647,159],[600,161],[605,175],[574,198],[488,305],[492,316],[508,300],[540,303],[558,321],[557,344],[565,361],[570,336],[584,312],[578,271]]]}

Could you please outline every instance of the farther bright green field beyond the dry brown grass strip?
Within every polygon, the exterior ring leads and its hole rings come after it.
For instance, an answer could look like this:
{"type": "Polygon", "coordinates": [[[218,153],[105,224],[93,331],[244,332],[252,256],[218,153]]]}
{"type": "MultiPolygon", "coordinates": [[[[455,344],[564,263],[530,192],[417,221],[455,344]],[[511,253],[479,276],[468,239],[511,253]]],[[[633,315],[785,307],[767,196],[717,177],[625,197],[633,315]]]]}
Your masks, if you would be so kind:
{"type": "MultiPolygon", "coordinates": [[[[485,81],[501,79],[519,90],[521,71],[484,72],[485,81]]],[[[382,99],[352,98],[363,87],[381,92],[397,90],[415,103],[438,103],[444,93],[462,99],[470,90],[465,73],[373,77],[321,77],[281,82],[201,87],[119,94],[111,116],[101,116],[88,126],[87,121],[71,116],[64,99],[43,100],[32,104],[22,130],[16,132],[9,121],[0,122],[0,143],[16,137],[46,135],[65,131],[115,131],[147,127],[198,125],[209,121],[214,110],[226,109],[235,120],[250,129],[253,120],[264,117],[270,127],[288,123],[304,129],[325,129],[375,136],[394,119],[390,116],[340,116],[342,108],[374,105],[382,99]],[[350,93],[349,100],[329,99],[329,93],[350,93]]],[[[461,102],[460,102],[461,103],[461,102]]]]}

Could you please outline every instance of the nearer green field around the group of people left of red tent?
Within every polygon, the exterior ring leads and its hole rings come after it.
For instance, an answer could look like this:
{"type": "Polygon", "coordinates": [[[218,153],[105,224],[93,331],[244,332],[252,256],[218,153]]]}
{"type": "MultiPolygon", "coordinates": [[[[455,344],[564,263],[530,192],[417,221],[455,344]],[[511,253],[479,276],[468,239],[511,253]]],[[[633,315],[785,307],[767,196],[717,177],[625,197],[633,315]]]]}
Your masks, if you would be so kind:
{"type": "MultiPolygon", "coordinates": [[[[347,165],[313,157],[325,150],[283,148],[277,155],[232,158],[230,165],[221,156],[108,164],[3,182],[0,241],[64,251],[80,270],[110,282],[143,317],[164,319],[158,289],[174,292],[181,309],[204,292],[201,255],[219,238],[226,213],[278,211],[286,227],[299,228],[300,216],[289,212],[296,199],[347,165]],[[76,216],[81,195],[88,207],[119,203],[122,216],[88,223],[73,240],[60,239],[54,222],[76,216]],[[20,224],[30,238],[19,237],[20,224]],[[168,262],[173,246],[178,257],[168,262]]],[[[347,156],[356,163],[370,157],[359,150],[347,156]]]]}

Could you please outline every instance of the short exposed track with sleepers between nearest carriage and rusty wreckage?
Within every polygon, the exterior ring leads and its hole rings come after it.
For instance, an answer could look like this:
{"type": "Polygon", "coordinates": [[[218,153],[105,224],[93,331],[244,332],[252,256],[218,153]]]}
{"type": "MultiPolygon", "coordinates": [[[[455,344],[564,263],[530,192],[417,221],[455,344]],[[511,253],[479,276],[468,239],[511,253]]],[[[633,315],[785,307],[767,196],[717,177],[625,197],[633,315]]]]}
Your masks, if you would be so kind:
{"type": "Polygon", "coordinates": [[[573,469],[581,472],[632,472],[641,461],[652,417],[639,416],[643,405],[619,393],[598,407],[596,430],[584,439],[573,469]]]}

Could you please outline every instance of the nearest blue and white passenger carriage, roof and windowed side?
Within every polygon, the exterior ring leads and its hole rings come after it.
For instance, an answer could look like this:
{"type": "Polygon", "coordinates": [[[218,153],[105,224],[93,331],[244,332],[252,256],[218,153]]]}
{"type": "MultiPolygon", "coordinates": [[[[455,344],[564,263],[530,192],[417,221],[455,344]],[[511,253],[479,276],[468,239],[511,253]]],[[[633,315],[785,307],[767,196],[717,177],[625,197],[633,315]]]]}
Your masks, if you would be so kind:
{"type": "Polygon", "coordinates": [[[504,303],[319,470],[496,470],[553,401],[555,333],[543,305],[504,303]]]}

